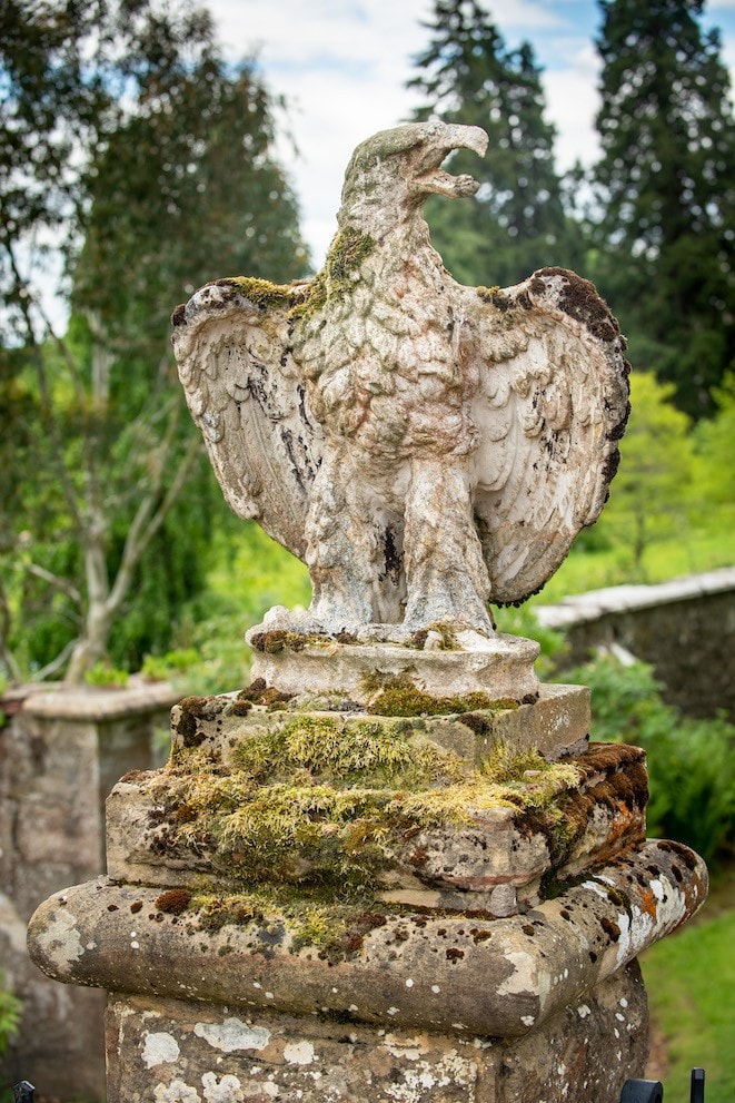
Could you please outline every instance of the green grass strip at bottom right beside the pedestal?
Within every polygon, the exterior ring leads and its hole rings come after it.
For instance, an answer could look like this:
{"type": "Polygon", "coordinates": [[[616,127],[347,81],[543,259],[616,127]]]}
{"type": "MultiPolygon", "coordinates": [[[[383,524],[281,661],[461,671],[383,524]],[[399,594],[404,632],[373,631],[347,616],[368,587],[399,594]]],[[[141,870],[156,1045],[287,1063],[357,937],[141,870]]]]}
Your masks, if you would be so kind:
{"type": "MultiPolygon", "coordinates": [[[[689,1099],[689,1073],[706,1072],[707,1103],[735,1099],[735,869],[695,920],[642,958],[652,1020],[663,1034],[668,1103],[689,1099]]],[[[658,1075],[659,1073],[657,1073],[658,1075]]]]}

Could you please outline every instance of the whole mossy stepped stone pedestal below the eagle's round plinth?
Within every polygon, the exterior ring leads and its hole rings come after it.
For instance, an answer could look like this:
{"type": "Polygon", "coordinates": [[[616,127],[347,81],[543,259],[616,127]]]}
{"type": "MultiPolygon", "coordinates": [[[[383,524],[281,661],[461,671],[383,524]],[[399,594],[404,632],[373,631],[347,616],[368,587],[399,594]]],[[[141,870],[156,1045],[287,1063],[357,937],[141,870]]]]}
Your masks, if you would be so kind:
{"type": "Polygon", "coordinates": [[[186,699],[169,766],[116,787],[108,877],[29,943],[110,994],[112,1103],[617,1103],[643,1074],[636,955],[706,895],[645,841],[643,752],[590,745],[576,687],[385,695],[186,699]]]}

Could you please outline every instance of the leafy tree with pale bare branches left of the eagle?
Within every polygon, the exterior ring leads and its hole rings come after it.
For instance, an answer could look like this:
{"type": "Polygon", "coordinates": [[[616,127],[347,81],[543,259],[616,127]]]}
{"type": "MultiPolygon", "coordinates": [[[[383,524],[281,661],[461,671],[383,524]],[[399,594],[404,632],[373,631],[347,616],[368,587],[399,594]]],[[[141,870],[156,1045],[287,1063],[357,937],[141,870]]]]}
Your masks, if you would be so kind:
{"type": "Polygon", "coordinates": [[[209,278],[287,278],[307,258],[275,105],[250,65],[225,65],[205,12],[9,0],[0,43],[0,390],[21,444],[0,474],[18,488],[0,505],[0,628],[17,614],[0,661],[68,660],[75,681],[116,626],[139,658],[203,580],[216,492],[172,307],[209,278]],[[43,294],[49,257],[68,326],[43,294]]]}

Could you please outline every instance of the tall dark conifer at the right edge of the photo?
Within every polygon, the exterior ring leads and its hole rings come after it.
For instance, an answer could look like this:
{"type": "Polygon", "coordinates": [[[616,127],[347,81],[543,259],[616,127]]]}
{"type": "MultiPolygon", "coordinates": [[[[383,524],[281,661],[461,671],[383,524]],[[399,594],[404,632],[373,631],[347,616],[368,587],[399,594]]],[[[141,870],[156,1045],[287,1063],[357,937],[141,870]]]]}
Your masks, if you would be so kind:
{"type": "Polygon", "coordinates": [[[735,356],[735,119],[703,0],[600,0],[597,278],[692,416],[735,356]]]}

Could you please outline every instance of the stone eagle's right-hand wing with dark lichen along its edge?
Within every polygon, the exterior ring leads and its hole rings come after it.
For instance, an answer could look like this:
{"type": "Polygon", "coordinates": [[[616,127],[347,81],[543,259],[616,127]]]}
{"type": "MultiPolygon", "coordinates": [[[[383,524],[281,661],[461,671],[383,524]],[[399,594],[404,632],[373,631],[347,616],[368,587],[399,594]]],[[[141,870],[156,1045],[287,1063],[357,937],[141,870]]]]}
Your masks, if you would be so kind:
{"type": "Polygon", "coordinates": [[[543,268],[479,288],[475,515],[491,601],[536,593],[607,500],[629,412],[625,338],[593,284],[543,268]]]}

